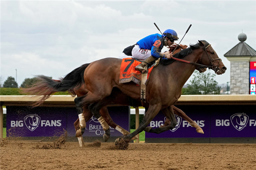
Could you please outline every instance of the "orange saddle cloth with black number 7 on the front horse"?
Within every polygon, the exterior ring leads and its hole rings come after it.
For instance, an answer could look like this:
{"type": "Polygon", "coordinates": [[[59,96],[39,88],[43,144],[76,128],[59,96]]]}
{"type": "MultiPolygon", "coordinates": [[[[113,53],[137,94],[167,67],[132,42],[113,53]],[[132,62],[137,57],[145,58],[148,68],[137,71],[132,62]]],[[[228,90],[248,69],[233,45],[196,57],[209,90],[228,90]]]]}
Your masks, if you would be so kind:
{"type": "MultiPolygon", "coordinates": [[[[133,58],[123,58],[120,68],[119,83],[127,83],[133,81],[134,83],[141,85],[141,72],[134,69],[140,63],[141,62],[136,61],[133,58]]],[[[154,65],[147,69],[147,79],[150,76],[153,67],[154,65]]]]}

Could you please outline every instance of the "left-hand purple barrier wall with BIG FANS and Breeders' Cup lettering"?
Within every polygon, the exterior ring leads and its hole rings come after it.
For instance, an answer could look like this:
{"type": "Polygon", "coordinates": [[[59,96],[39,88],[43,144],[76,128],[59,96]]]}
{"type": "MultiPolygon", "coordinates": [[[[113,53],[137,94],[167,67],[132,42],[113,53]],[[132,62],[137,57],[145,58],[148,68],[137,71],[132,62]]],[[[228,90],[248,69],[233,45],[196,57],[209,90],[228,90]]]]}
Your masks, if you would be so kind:
{"type": "MultiPolygon", "coordinates": [[[[128,106],[108,107],[115,123],[130,131],[130,108],[128,106]]],[[[75,136],[73,123],[78,118],[74,107],[6,106],[6,136],[46,137],[60,136],[67,130],[68,136],[75,136]]],[[[102,137],[104,131],[98,120],[92,117],[86,123],[84,137],[102,137]]],[[[111,128],[111,136],[122,134],[111,128]]]]}

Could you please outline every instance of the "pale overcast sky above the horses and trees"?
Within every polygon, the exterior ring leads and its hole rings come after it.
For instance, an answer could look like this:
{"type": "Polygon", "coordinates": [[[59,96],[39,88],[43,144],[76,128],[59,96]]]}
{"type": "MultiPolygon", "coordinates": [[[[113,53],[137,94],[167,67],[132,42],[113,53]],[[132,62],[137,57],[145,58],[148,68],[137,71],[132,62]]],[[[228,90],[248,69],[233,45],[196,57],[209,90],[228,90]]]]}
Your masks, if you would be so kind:
{"type": "Polygon", "coordinates": [[[16,78],[17,69],[19,86],[33,75],[58,79],[82,64],[118,57],[124,48],[159,33],[154,22],[162,32],[175,30],[180,39],[192,24],[182,44],[206,40],[212,45],[227,67],[225,74],[216,76],[219,84],[230,81],[230,62],[224,54],[239,43],[242,30],[245,43],[256,49],[256,1],[0,3],[0,74],[4,82],[9,76],[16,78]]]}

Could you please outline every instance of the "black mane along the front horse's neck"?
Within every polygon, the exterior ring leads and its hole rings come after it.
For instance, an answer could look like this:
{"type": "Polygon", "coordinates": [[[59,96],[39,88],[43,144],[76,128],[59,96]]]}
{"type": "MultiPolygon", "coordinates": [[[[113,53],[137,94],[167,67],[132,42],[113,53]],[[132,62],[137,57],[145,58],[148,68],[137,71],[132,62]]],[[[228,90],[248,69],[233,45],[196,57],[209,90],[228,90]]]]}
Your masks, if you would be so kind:
{"type": "MultiPolygon", "coordinates": [[[[201,40],[202,42],[205,43],[205,47],[209,45],[209,43],[205,40],[201,40]]],[[[188,54],[190,54],[193,50],[200,48],[200,44],[190,44],[188,48],[182,50],[181,52],[178,52],[176,54],[173,55],[173,57],[175,58],[184,58],[185,56],[187,56],[188,54]]],[[[174,59],[163,59],[160,58],[160,64],[162,65],[169,65],[172,64],[175,60],[174,59]]]]}

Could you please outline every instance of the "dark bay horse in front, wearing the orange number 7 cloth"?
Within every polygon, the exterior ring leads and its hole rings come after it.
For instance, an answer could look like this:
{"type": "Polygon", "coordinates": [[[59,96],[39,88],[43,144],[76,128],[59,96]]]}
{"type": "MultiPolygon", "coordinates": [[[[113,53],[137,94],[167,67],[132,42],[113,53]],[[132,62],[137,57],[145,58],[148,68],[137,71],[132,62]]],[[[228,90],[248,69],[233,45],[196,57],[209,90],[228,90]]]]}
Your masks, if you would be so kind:
{"type": "MultiPolygon", "coordinates": [[[[183,58],[189,62],[184,62],[184,60],[182,62],[173,62],[173,59],[161,60],[159,66],[153,69],[150,78],[151,81],[147,84],[146,92],[145,106],[148,106],[148,110],[139,128],[125,136],[124,140],[130,141],[134,136],[146,129],[147,124],[150,123],[160,110],[171,121],[171,124],[163,127],[161,131],[173,129],[176,125],[176,119],[172,105],[177,102],[181,96],[183,85],[198,66],[211,68],[217,74],[225,73],[227,69],[210,44],[204,40],[175,54],[174,57],[183,58]]],[[[37,103],[40,104],[51,96],[49,92],[71,90],[85,83],[88,93],[75,98],[77,113],[81,115],[83,112],[82,107],[92,103],[88,109],[99,120],[103,130],[108,133],[109,126],[100,116],[99,111],[116,98],[119,92],[118,90],[135,100],[140,100],[140,87],[134,86],[134,83],[131,82],[124,84],[118,83],[120,63],[121,60],[117,58],[104,58],[95,61],[87,65],[88,67],[86,69],[85,67],[80,67],[73,70],[69,73],[70,75],[74,75],[71,76],[73,79],[61,81],[61,83],[54,83],[47,77],[39,76],[38,78],[41,79],[41,82],[38,82],[37,86],[25,89],[24,92],[33,95],[44,95],[37,103]],[[44,89],[43,92],[42,89],[44,89]]],[[[151,132],[154,130],[147,128],[146,131],[151,132]]]]}

